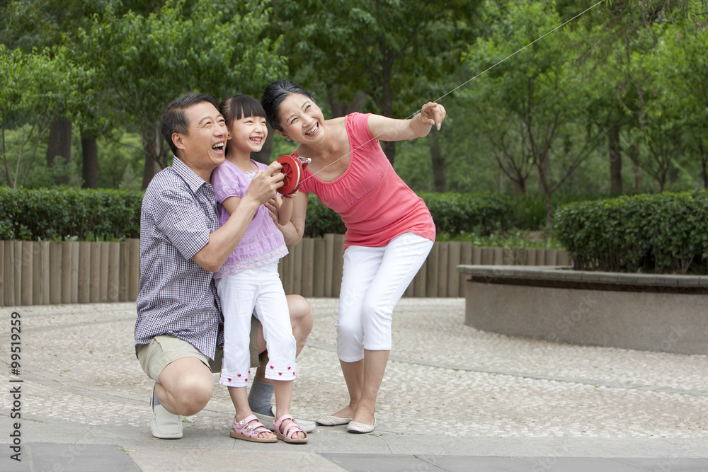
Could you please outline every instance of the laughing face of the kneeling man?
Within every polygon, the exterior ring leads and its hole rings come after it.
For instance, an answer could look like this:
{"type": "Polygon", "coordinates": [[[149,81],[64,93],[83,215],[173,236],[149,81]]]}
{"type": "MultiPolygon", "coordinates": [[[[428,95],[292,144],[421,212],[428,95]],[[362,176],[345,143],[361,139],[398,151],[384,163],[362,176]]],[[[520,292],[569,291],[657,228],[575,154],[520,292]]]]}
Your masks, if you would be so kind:
{"type": "Polygon", "coordinates": [[[201,178],[209,181],[212,171],[224,162],[226,123],[219,110],[209,102],[185,108],[189,120],[187,134],[174,133],[174,144],[181,159],[201,178]]]}

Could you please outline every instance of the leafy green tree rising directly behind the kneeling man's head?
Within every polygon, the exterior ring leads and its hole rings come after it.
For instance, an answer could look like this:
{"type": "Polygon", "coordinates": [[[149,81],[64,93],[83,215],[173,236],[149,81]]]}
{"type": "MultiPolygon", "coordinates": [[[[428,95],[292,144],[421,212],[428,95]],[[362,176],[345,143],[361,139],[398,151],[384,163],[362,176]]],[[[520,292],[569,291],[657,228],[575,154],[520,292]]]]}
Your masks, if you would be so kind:
{"type": "Polygon", "coordinates": [[[109,8],[80,33],[85,61],[98,71],[96,88],[110,90],[101,117],[132,122],[142,135],[143,188],[168,165],[159,117],[173,98],[189,91],[260,93],[285,71],[278,41],[263,38],[267,4],[168,0],[148,16],[117,16],[109,8]]]}

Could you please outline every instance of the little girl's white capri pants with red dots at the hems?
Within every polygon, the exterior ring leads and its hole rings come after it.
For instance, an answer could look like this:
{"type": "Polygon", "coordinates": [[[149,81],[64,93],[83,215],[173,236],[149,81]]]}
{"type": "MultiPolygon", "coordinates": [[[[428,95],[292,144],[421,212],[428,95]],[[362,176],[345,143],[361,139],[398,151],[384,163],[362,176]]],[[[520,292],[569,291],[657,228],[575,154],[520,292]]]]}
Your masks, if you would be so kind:
{"type": "Polygon", "coordinates": [[[261,321],[268,346],[265,378],[294,380],[297,347],[285,291],[278,277],[278,261],[217,279],[216,286],[224,313],[224,360],[219,384],[248,385],[251,315],[261,321]]]}

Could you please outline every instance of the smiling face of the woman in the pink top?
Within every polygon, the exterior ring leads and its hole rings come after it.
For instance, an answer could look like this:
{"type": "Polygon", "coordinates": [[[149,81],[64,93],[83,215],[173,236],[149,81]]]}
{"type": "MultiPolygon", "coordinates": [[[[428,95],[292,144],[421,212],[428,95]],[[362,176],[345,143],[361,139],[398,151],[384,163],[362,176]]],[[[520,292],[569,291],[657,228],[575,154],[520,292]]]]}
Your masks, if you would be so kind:
{"type": "Polygon", "coordinates": [[[324,115],[312,98],[291,93],[280,103],[278,116],[282,127],[278,132],[295,142],[310,144],[324,135],[324,115]]]}

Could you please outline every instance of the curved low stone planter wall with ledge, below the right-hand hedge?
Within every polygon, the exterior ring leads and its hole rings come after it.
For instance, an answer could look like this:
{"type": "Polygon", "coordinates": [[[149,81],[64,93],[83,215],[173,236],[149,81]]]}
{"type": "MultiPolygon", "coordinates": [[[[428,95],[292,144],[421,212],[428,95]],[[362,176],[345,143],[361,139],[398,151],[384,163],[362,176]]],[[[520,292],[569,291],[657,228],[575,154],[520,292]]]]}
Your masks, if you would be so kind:
{"type": "Polygon", "coordinates": [[[708,355],[708,277],[460,265],[465,324],[513,336],[708,355]]]}

